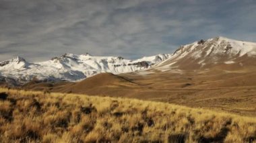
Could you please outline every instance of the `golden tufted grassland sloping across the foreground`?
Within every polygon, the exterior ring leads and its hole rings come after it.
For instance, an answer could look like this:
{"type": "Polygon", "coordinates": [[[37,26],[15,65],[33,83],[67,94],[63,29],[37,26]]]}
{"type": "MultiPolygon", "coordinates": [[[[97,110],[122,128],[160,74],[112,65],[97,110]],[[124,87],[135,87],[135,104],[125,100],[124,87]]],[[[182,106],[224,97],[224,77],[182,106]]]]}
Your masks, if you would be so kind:
{"type": "Polygon", "coordinates": [[[1,142],[256,142],[256,118],[137,99],[0,89],[1,142]]]}

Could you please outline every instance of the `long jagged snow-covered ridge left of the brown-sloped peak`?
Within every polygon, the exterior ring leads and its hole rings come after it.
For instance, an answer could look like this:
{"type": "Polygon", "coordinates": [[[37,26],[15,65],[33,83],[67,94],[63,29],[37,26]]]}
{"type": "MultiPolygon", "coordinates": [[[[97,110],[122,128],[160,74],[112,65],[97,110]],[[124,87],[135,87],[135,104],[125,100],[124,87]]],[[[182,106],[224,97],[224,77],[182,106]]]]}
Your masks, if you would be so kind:
{"type": "MultiPolygon", "coordinates": [[[[149,68],[166,60],[170,54],[127,60],[121,56],[91,56],[90,54],[63,54],[45,62],[27,62],[15,57],[0,62],[0,80],[27,83],[40,81],[79,81],[98,73],[129,73],[149,68]]],[[[14,82],[14,83],[15,83],[14,82]]],[[[12,82],[11,82],[12,83],[12,82]]]]}

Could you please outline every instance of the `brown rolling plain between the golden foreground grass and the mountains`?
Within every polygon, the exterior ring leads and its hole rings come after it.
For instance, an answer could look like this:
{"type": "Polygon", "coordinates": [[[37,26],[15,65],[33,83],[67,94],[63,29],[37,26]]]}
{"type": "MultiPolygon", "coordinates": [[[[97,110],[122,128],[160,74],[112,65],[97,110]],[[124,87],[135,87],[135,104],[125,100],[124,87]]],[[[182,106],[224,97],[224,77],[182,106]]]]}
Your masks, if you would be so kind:
{"type": "MultiPolygon", "coordinates": [[[[32,81],[22,89],[127,97],[162,101],[187,107],[227,111],[256,116],[256,70],[200,70],[184,73],[152,72],[143,75],[102,73],[79,82],[42,83],[32,81]]],[[[148,72],[151,72],[148,71],[148,72]]]]}

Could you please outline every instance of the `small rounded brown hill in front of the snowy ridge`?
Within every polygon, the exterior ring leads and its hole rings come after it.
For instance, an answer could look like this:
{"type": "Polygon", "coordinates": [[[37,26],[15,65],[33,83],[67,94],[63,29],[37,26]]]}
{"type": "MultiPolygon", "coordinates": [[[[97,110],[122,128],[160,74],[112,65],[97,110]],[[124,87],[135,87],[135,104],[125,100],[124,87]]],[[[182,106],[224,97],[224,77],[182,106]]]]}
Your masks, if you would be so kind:
{"type": "MultiPolygon", "coordinates": [[[[136,89],[141,86],[130,79],[114,75],[112,73],[101,73],[94,77],[89,77],[77,83],[65,83],[55,85],[53,91],[62,93],[86,93],[92,95],[108,95],[111,89],[136,89]]],[[[113,93],[122,95],[125,93],[113,93]]]]}

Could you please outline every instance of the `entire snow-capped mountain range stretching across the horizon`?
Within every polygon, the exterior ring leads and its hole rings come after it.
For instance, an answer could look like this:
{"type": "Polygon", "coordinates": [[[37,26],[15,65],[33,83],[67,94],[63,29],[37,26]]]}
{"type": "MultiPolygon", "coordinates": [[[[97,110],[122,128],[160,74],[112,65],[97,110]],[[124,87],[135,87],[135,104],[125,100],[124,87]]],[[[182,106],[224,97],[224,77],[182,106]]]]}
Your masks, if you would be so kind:
{"type": "Polygon", "coordinates": [[[44,62],[28,62],[18,56],[0,62],[0,81],[8,85],[24,85],[29,81],[82,81],[99,73],[138,72],[140,75],[185,70],[238,70],[255,68],[256,43],[224,37],[199,40],[179,47],[173,54],[158,54],[137,60],[121,56],[63,54],[44,62]]]}

